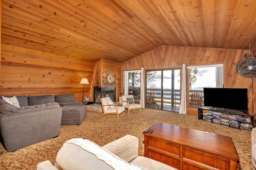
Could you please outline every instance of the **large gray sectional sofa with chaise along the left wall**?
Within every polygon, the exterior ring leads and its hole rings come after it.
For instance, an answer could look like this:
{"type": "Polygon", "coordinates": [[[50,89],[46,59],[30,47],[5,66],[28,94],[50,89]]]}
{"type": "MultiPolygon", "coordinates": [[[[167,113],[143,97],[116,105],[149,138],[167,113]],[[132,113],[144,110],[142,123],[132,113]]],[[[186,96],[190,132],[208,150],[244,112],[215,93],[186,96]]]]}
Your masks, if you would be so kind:
{"type": "Polygon", "coordinates": [[[75,94],[15,98],[18,106],[0,96],[0,130],[8,152],[59,136],[60,125],[80,125],[87,116],[86,107],[76,102],[75,94]]]}

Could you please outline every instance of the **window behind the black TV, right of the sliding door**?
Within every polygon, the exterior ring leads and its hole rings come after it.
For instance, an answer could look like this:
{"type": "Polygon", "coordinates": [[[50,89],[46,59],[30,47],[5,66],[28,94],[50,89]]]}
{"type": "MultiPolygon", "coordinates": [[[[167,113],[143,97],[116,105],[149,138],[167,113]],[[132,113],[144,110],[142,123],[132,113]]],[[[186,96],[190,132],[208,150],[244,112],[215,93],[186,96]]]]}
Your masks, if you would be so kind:
{"type": "Polygon", "coordinates": [[[188,66],[189,107],[201,107],[204,103],[204,87],[223,87],[223,64],[188,66]]]}

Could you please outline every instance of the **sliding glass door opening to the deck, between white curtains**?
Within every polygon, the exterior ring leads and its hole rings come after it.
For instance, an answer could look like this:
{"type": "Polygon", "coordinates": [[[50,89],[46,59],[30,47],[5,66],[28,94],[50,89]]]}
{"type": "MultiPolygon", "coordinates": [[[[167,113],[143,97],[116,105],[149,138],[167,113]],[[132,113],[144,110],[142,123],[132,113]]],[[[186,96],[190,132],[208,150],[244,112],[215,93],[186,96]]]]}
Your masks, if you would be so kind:
{"type": "Polygon", "coordinates": [[[180,109],[180,69],[146,71],[146,107],[180,109]]]}

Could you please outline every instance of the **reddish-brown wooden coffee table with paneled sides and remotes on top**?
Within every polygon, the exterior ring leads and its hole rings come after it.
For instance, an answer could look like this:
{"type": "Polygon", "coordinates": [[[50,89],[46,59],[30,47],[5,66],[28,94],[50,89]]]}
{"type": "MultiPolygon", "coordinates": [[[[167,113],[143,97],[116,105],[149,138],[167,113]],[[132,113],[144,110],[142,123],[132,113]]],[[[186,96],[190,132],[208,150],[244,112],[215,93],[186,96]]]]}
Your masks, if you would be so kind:
{"type": "Polygon", "coordinates": [[[144,133],[145,157],[180,170],[239,170],[239,156],[229,136],[156,123],[144,133]]]}

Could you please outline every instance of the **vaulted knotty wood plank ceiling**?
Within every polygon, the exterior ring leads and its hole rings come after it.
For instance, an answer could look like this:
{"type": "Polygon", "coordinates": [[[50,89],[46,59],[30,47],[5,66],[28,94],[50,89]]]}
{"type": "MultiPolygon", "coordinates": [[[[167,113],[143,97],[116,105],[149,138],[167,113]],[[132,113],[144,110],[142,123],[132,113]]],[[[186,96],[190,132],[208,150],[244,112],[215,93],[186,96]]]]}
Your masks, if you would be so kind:
{"type": "Polygon", "coordinates": [[[2,43],[122,63],[160,45],[248,49],[256,0],[2,0],[2,43]]]}

